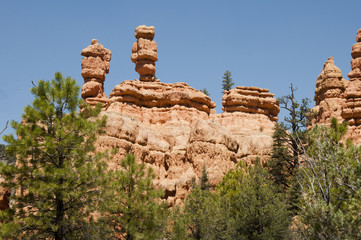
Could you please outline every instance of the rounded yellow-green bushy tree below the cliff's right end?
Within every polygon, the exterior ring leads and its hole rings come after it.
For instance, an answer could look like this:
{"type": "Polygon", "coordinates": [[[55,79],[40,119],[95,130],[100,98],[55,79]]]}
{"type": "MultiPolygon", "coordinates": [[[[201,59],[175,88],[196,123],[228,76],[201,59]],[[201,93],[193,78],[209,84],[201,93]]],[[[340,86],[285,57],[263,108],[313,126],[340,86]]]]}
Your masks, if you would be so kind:
{"type": "Polygon", "coordinates": [[[237,239],[285,239],[290,218],[283,195],[278,193],[259,161],[239,165],[226,174],[218,190],[227,197],[235,218],[237,239]]]}

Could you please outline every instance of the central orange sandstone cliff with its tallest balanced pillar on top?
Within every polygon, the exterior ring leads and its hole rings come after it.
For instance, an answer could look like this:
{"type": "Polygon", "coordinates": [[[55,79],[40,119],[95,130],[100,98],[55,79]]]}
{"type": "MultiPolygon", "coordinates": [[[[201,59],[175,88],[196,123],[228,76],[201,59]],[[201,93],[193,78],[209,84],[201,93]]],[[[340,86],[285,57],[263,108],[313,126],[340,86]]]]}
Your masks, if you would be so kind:
{"type": "Polygon", "coordinates": [[[165,189],[173,205],[185,198],[204,166],[216,184],[239,161],[266,161],[279,107],[267,89],[236,87],[223,97],[224,113],[216,114],[215,103],[201,91],[156,80],[154,34],[154,27],[135,31],[131,60],[139,80],[123,81],[108,99],[93,96],[91,103],[105,103],[102,114],[108,118],[97,149],[119,148],[109,166],[119,168],[121,159],[133,153],[155,170],[155,186],[165,189]]]}

